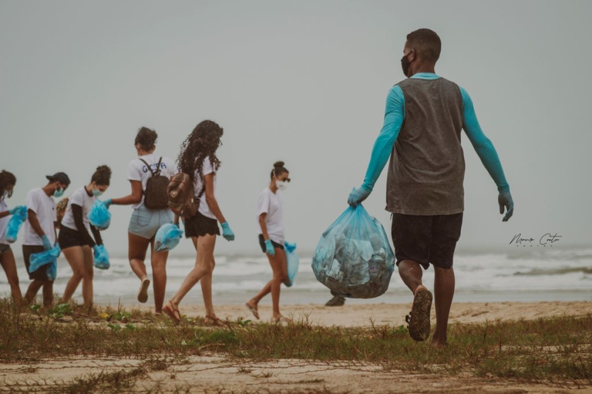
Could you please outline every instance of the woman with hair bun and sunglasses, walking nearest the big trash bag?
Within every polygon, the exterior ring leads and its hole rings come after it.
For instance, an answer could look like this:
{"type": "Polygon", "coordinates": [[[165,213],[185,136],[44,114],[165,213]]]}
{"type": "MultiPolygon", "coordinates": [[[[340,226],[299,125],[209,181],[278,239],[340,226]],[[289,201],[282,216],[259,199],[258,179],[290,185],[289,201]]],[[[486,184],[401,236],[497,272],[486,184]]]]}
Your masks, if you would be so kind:
{"type": "Polygon", "coordinates": [[[250,299],[246,305],[259,320],[257,305],[259,301],[271,292],[274,323],[291,321],[279,312],[280,285],[288,279],[288,266],[286,252],[284,250],[284,211],[282,201],[279,199],[278,190],[285,190],[290,181],[289,172],[284,167],[283,161],[274,164],[271,170],[271,183],[259,194],[257,205],[257,225],[259,227],[259,246],[269,259],[269,265],[274,273],[271,281],[261,291],[250,299]]]}

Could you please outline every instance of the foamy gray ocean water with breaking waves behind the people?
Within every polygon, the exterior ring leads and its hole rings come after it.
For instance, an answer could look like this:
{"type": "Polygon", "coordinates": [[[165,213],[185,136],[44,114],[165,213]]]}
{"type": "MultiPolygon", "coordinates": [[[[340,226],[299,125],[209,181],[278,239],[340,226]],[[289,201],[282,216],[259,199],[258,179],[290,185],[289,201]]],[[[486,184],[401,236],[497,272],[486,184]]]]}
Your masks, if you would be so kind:
{"type": "MultiPolygon", "coordinates": [[[[16,251],[18,276],[22,291],[29,284],[24,263],[16,251]]],[[[265,255],[215,255],[213,277],[214,304],[243,304],[271,279],[271,268],[265,255]]],[[[310,266],[311,253],[300,256],[300,270],[291,288],[282,285],[282,304],[324,304],[329,289],[314,277],[310,266]]],[[[195,256],[175,256],[167,263],[166,298],[172,297],[185,275],[195,264],[195,256]]],[[[148,265],[150,275],[150,266],[148,265]]],[[[501,301],[592,301],[592,248],[509,249],[504,252],[457,252],[455,302],[501,301]]],[[[61,294],[72,271],[60,256],[54,291],[61,294]]],[[[424,284],[432,288],[433,270],[424,271],[424,284]]],[[[107,271],[95,269],[95,302],[101,305],[139,304],[136,301],[139,279],[131,272],[127,258],[111,257],[107,271]]],[[[9,294],[6,276],[0,273],[0,294],[9,294]]],[[[75,299],[82,302],[81,286],[75,299]]],[[[351,303],[406,303],[410,291],[397,271],[392,275],[388,291],[378,298],[351,299],[351,303]]],[[[152,295],[147,305],[152,302],[152,295]]],[[[196,285],[184,299],[185,303],[202,304],[201,288],[196,285]]],[[[271,304],[271,296],[262,301],[271,304]]]]}

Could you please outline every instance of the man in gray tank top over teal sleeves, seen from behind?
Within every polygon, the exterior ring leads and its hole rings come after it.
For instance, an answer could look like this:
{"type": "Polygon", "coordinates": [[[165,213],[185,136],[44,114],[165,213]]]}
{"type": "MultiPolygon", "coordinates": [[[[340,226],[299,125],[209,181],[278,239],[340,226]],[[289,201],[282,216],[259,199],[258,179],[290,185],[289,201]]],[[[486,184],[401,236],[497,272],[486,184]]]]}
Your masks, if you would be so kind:
{"type": "Polygon", "coordinates": [[[392,213],[392,242],[399,275],[414,294],[406,317],[416,341],[430,335],[432,293],[422,284],[422,267],[433,265],[436,328],[432,344],[444,346],[454,295],[452,261],[461,235],[465,159],[461,129],[497,185],[500,214],[506,222],[514,203],[500,159],[481,131],[471,97],[462,87],[435,73],[440,38],[429,29],[407,35],[401,66],[406,80],[388,92],[384,125],[374,143],[363,184],[352,191],[355,207],[372,192],[390,157],[387,211],[392,213]]]}

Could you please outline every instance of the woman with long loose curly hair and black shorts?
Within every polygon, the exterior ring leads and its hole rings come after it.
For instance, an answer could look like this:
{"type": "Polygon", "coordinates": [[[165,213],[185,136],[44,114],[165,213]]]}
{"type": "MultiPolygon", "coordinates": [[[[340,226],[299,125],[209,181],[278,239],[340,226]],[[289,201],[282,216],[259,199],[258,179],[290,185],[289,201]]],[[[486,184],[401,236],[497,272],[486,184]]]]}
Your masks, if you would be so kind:
{"type": "MultiPolygon", "coordinates": [[[[194,183],[195,201],[199,208],[194,216],[185,219],[185,236],[191,237],[197,258],[195,267],[188,273],[179,291],[162,308],[175,323],[181,323],[179,303],[185,295],[201,281],[201,292],[205,305],[205,323],[221,325],[212,304],[212,272],[214,271],[214,246],[216,236],[220,235],[218,223],[222,226],[222,236],[234,240],[234,233],[215,198],[216,172],[220,160],[216,150],[221,145],[223,129],[213,121],[203,121],[185,139],[179,154],[178,170],[189,174],[194,183]],[[204,197],[205,196],[205,197],[204,197]]],[[[178,222],[178,217],[175,218],[178,222]]]]}

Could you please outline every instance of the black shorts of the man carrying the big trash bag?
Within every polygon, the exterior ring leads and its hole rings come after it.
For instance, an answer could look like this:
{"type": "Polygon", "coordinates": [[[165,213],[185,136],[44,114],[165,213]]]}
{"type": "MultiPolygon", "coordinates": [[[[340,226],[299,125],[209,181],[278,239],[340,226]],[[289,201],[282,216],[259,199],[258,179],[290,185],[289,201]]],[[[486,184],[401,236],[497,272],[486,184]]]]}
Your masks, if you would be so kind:
{"type": "Polygon", "coordinates": [[[392,214],[392,243],[397,265],[401,260],[413,260],[424,269],[430,263],[452,268],[456,242],[461,237],[462,212],[452,215],[392,214]]]}

